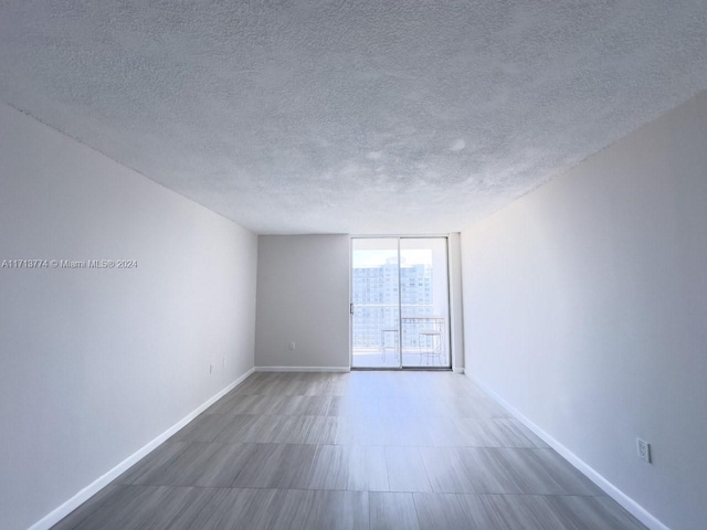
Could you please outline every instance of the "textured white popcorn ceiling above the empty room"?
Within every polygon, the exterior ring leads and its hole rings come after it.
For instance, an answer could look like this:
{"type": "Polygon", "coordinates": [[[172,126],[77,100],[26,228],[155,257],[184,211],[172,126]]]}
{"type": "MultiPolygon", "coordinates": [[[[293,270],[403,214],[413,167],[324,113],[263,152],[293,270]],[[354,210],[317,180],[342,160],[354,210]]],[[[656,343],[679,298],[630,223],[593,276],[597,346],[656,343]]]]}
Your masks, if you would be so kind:
{"type": "Polygon", "coordinates": [[[456,231],[705,88],[705,0],[0,3],[0,100],[258,233],[456,231]]]}

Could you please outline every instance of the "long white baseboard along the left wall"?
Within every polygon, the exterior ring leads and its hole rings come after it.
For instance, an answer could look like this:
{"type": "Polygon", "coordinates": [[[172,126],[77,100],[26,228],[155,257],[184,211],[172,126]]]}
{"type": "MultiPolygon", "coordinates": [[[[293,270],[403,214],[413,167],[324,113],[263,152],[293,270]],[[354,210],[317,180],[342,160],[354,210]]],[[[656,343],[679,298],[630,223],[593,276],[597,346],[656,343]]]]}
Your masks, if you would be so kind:
{"type": "Polygon", "coordinates": [[[63,518],[65,518],[68,513],[74,511],[76,508],[78,508],[81,505],[83,505],[85,501],[87,501],[91,497],[93,497],[98,491],[101,491],[103,488],[105,488],[114,479],[116,479],[123,473],[128,470],[138,460],[140,460],[140,459],[145,458],[147,455],[149,455],[162,442],[167,441],[170,436],[172,436],[179,430],[184,427],[189,422],[191,422],[194,417],[197,417],[199,414],[201,414],[203,411],[205,411],[209,406],[211,406],[213,403],[215,403],[221,398],[223,398],[225,394],[228,394],[233,389],[235,389],[239,384],[241,384],[243,381],[245,381],[245,379],[249,375],[251,375],[254,371],[255,371],[255,369],[251,368],[247,372],[245,372],[239,379],[233,381],[225,389],[221,390],[219,393],[217,393],[215,395],[213,395],[212,398],[207,400],[204,403],[199,405],[197,409],[194,409],[192,412],[187,414],[184,417],[182,417],[179,422],[177,422],[175,425],[169,427],[162,434],[160,434],[155,439],[150,441],[148,444],[146,444],[145,446],[143,446],[141,448],[139,448],[138,451],[133,453],[130,456],[128,456],[125,460],[123,460],[120,464],[115,466],[108,473],[106,473],[102,477],[99,477],[96,480],[94,480],[93,483],[91,483],[88,486],[83,488],[81,491],[78,491],[76,495],[74,495],[71,499],[68,499],[66,502],[61,505],[59,508],[54,509],[53,511],[51,511],[50,513],[44,516],[42,519],[36,521],[34,524],[32,524],[29,528],[29,530],[48,530],[51,527],[53,527],[54,524],[56,524],[59,521],[61,521],[63,518]]]}

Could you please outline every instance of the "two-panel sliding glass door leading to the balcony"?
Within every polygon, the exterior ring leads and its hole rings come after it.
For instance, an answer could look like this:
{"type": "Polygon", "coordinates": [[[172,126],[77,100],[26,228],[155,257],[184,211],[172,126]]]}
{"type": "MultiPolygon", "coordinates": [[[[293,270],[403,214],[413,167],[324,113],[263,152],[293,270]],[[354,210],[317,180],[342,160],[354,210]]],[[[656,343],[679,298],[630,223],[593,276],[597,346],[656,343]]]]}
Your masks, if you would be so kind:
{"type": "Polygon", "coordinates": [[[351,367],[450,368],[445,237],[351,240],[351,367]]]}

